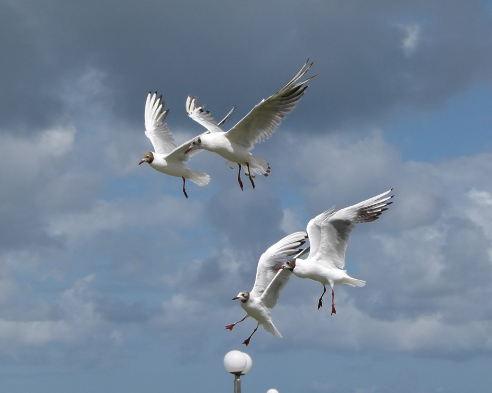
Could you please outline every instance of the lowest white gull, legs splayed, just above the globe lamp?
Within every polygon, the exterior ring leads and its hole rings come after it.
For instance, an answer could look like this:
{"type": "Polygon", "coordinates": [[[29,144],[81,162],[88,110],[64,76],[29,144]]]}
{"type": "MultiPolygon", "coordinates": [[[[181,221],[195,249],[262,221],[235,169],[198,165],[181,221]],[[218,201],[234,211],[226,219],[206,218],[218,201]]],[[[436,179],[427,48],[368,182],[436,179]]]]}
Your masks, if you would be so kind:
{"type": "Polygon", "coordinates": [[[280,293],[287,285],[292,272],[288,269],[277,272],[277,268],[282,266],[286,258],[296,254],[296,258],[299,258],[307,252],[307,250],[299,249],[306,242],[306,239],[306,232],[296,232],[268,248],[258,261],[253,289],[250,292],[240,292],[238,296],[232,299],[241,301],[241,307],[246,311],[246,316],[234,324],[227,325],[226,329],[232,331],[236,324],[243,322],[247,317],[252,317],[258,321],[253,333],[243,342],[246,346],[260,325],[267,332],[282,338],[273,323],[269,309],[277,304],[280,293]]]}

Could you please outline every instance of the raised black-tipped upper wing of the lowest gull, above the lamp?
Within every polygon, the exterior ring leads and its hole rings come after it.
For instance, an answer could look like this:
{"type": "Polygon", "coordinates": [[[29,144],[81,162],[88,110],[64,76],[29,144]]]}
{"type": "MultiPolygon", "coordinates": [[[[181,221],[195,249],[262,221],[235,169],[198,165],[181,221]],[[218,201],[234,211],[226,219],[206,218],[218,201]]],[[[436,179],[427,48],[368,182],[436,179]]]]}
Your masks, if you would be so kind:
{"type": "MultiPolygon", "coordinates": [[[[306,232],[296,232],[286,236],[266,250],[258,261],[256,280],[251,296],[259,297],[277,274],[277,268],[282,266],[287,257],[297,254],[306,242],[306,232]]],[[[282,269],[285,270],[285,269],[282,269]]],[[[285,281],[287,282],[287,281],[285,281]]]]}

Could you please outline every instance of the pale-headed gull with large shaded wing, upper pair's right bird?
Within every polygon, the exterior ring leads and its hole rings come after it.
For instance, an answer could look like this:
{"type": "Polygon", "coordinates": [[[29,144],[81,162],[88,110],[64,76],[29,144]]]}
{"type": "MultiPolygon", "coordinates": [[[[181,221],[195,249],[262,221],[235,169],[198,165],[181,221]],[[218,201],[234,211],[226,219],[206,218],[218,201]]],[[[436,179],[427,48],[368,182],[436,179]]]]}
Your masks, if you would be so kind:
{"type": "Polygon", "coordinates": [[[189,95],[186,100],[188,116],[205,126],[208,132],[194,138],[187,152],[205,149],[221,155],[228,160],[227,164],[229,165],[238,164],[238,182],[241,189],[243,189],[241,167],[245,166],[249,181],[254,188],[253,174],[268,176],[271,168],[266,160],[255,157],[249,151],[254,148],[256,143],[270,138],[277,126],[285,119],[286,114],[292,112],[304,95],[307,86],[303,85],[317,76],[314,75],[298,82],[313,64],[307,65],[308,62],[309,59],[282,89],[262,100],[241,121],[226,132],[222,131],[216,123],[208,121],[208,116],[211,117],[210,113],[203,111],[204,105],[197,107],[196,97],[191,98],[189,95]]]}

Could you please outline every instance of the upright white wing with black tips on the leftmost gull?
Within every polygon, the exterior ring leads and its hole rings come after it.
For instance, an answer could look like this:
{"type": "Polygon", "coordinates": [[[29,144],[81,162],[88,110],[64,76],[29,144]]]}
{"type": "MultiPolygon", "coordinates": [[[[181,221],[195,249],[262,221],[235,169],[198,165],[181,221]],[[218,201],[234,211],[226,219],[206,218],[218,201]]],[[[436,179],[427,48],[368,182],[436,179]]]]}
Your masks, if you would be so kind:
{"type": "Polygon", "coordinates": [[[145,103],[145,135],[154,146],[156,153],[168,154],[176,148],[174,137],[164,120],[169,112],[164,110],[162,95],[157,98],[157,91],[149,92],[145,103]]]}

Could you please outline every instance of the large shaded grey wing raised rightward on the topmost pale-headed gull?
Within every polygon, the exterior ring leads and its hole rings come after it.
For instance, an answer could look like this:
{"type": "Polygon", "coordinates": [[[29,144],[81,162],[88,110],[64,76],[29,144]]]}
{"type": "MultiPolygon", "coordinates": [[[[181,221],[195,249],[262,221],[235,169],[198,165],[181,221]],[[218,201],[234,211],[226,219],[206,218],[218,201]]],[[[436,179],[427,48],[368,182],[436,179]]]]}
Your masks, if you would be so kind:
{"type": "Polygon", "coordinates": [[[241,121],[226,132],[230,141],[251,150],[255,143],[270,138],[277,126],[285,119],[286,114],[292,112],[304,95],[307,86],[303,86],[303,84],[317,76],[314,75],[296,84],[311,68],[313,63],[307,65],[308,61],[309,59],[289,83],[274,95],[262,100],[241,121]]]}

